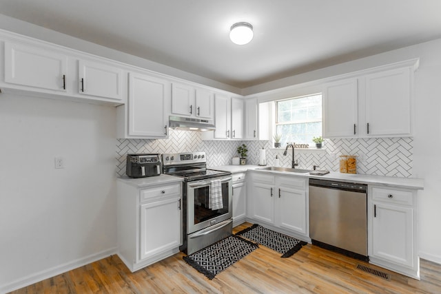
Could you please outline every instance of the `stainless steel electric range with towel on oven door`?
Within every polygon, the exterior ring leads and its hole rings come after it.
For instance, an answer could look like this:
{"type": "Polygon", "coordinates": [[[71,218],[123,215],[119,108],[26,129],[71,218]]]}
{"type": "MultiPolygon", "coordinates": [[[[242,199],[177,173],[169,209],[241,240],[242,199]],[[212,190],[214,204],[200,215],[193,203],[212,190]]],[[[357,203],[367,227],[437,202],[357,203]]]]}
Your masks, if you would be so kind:
{"type": "Polygon", "coordinates": [[[184,178],[181,251],[191,254],[231,235],[232,174],[207,169],[205,152],[163,154],[162,158],[164,174],[184,178]]]}

